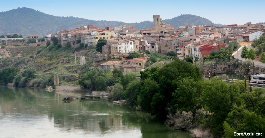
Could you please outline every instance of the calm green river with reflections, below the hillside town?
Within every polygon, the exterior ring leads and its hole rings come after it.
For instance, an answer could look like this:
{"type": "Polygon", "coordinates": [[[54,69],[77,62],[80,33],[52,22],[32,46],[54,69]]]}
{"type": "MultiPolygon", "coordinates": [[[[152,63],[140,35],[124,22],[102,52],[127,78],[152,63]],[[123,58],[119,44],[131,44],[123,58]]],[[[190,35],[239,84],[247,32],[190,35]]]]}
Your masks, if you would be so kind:
{"type": "Polygon", "coordinates": [[[65,102],[63,96],[64,92],[0,86],[0,137],[192,138],[130,106],[104,99],[65,102]]]}

